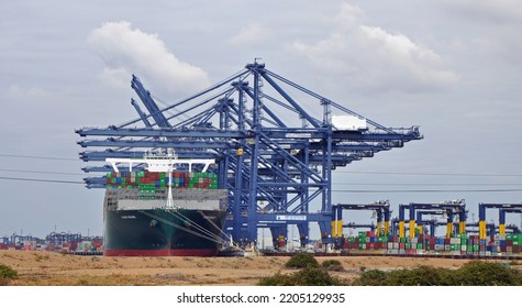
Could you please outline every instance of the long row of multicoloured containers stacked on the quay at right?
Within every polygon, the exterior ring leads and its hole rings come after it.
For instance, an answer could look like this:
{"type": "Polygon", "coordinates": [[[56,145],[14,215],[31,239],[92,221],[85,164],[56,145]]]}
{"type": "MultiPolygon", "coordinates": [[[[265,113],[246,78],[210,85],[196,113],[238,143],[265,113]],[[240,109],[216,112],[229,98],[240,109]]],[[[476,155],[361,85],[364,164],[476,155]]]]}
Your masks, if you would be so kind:
{"type": "Polygon", "coordinates": [[[386,250],[389,254],[448,254],[448,255],[517,255],[522,253],[522,234],[495,235],[479,240],[478,235],[467,233],[452,234],[449,238],[435,238],[425,234],[417,238],[393,235],[376,237],[375,232],[358,232],[357,237],[345,237],[343,248],[351,251],[377,252],[386,250]]]}

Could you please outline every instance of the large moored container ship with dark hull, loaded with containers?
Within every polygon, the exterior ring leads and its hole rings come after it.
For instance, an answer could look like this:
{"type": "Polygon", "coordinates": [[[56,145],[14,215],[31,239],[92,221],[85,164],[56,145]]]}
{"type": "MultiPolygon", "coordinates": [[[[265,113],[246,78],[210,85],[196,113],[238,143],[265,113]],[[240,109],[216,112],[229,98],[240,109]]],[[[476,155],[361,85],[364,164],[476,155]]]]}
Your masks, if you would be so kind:
{"type": "Polygon", "coordinates": [[[213,160],[179,160],[168,152],[107,162],[113,172],[107,174],[103,255],[218,254],[227,191],[207,172],[213,160]],[[125,164],[129,170],[120,170],[125,164]],[[195,165],[203,165],[201,172],[193,172],[195,165]]]}

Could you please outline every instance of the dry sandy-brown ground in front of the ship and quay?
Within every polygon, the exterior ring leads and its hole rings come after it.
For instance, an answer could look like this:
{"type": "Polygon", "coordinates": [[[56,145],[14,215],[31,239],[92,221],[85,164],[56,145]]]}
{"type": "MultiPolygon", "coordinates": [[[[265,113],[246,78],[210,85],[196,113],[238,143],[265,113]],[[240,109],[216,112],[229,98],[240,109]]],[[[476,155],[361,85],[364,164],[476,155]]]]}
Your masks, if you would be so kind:
{"type": "MultiPolygon", "coordinates": [[[[288,256],[255,257],[104,257],[76,256],[53,252],[0,251],[0,264],[18,272],[10,285],[23,286],[160,286],[224,285],[253,286],[262,277],[286,270],[288,256]]],[[[353,280],[366,270],[413,268],[432,265],[458,268],[465,260],[413,258],[391,256],[316,257],[337,260],[344,271],[332,276],[353,280]]]]}

